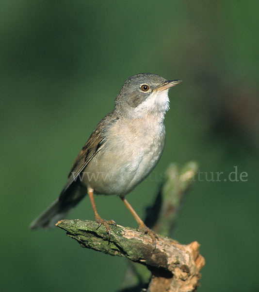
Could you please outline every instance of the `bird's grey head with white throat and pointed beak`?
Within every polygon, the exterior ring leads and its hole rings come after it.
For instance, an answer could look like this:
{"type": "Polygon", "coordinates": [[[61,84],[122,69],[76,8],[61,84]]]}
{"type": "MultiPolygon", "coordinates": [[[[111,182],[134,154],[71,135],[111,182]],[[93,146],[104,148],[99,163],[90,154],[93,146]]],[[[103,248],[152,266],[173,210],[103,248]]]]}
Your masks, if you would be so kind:
{"type": "Polygon", "coordinates": [[[122,86],[114,110],[141,117],[146,113],[164,113],[169,109],[169,88],[180,80],[166,80],[152,73],[139,73],[129,77],[122,86]]]}

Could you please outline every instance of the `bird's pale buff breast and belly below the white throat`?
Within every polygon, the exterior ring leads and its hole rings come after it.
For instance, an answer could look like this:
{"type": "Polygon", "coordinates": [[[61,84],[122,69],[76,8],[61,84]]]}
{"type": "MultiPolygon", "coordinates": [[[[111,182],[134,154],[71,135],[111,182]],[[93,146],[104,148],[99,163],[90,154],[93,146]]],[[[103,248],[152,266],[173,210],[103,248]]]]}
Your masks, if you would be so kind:
{"type": "Polygon", "coordinates": [[[86,167],[86,171],[102,173],[102,178],[90,182],[90,186],[103,194],[129,193],[156,166],[164,141],[162,122],[148,119],[116,122],[106,132],[104,147],[86,167]]]}

